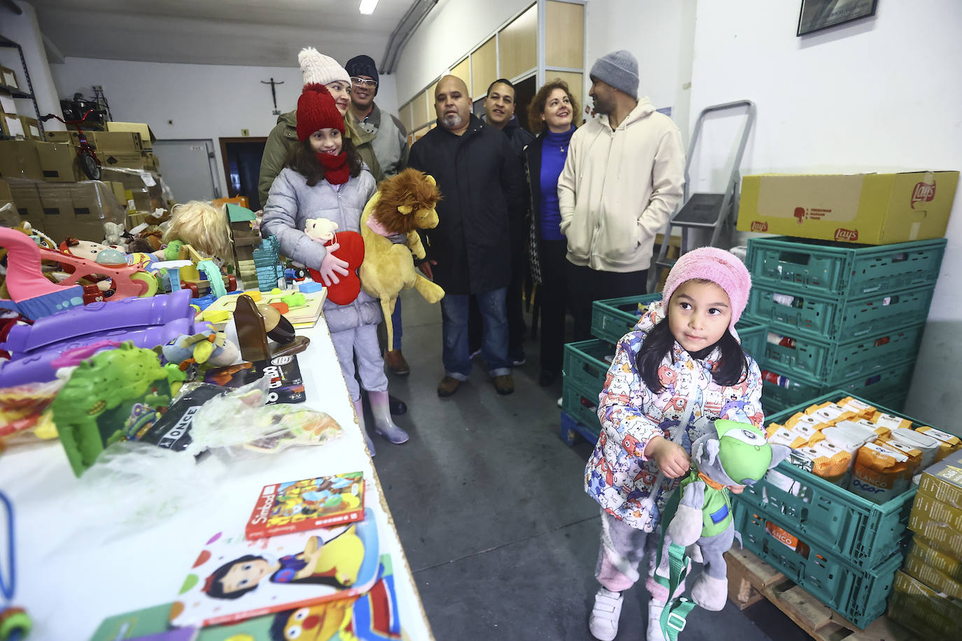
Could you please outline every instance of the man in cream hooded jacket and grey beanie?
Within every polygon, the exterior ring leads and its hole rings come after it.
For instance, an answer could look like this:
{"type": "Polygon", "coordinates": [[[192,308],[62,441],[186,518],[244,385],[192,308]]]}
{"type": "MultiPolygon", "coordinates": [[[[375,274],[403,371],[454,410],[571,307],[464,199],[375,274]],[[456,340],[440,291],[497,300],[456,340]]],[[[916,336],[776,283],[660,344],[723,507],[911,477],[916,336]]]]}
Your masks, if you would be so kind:
{"type": "Polygon", "coordinates": [[[591,338],[594,301],[646,293],[655,234],[681,203],[685,171],[678,128],[638,100],[635,57],[602,56],[590,75],[600,116],[571,136],[558,178],[574,340],[591,338]]]}

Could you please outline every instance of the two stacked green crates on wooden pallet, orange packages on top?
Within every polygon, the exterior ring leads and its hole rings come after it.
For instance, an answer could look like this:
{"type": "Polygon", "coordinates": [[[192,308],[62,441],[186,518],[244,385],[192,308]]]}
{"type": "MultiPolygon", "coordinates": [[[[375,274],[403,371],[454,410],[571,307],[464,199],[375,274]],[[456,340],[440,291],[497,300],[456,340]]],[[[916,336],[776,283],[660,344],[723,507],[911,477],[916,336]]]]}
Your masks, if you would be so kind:
{"type": "MultiPolygon", "coordinates": [[[[844,390],[773,414],[784,424],[809,405],[836,402],[844,390]]],[[[891,407],[872,404],[909,418],[891,407]]],[[[911,532],[906,529],[917,488],[875,504],[782,461],[765,479],[732,496],[735,530],[745,548],[777,568],[860,628],[880,616],[892,594],[911,532]]]]}

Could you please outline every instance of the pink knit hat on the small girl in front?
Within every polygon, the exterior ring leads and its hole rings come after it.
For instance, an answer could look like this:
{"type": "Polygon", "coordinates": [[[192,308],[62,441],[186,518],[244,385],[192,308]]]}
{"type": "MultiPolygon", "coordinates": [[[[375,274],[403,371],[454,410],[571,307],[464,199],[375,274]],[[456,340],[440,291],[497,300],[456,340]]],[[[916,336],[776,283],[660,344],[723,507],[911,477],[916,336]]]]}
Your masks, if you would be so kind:
{"type": "Polygon", "coordinates": [[[751,289],[751,275],[745,264],[731,252],[717,247],[699,247],[684,254],[671,267],[662,300],[665,305],[671,300],[671,294],[679,285],[686,281],[701,279],[711,281],[722,287],[731,302],[731,329],[742,317],[748,303],[748,291],[751,289]]]}

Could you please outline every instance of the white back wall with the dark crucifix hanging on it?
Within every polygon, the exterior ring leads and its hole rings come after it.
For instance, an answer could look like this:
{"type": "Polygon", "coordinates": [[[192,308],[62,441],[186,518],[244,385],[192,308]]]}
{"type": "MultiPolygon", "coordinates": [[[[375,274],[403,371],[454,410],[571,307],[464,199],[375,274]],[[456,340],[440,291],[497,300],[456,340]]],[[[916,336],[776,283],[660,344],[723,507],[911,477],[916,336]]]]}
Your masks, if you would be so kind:
{"type": "MultiPolygon", "coordinates": [[[[277,116],[271,113],[270,86],[261,81],[284,82],[276,87],[281,112],[296,108],[303,86],[297,67],[67,58],[63,64],[51,64],[50,69],[63,97],[76,91],[90,95],[90,86],[103,86],[114,120],[146,122],[162,139],[213,139],[221,193],[227,193],[227,185],[217,138],[241,136],[241,129],[249,130],[250,136],[270,133],[277,116]]],[[[377,103],[396,113],[392,76],[381,76],[377,103]]]]}

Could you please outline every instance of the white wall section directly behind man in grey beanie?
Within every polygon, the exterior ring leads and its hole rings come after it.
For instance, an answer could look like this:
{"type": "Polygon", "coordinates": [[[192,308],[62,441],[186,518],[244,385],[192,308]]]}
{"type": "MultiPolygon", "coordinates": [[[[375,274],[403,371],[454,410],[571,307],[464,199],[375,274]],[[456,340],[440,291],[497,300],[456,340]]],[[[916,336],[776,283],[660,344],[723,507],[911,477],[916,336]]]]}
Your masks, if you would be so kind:
{"type": "MultiPolygon", "coordinates": [[[[686,144],[695,9],[696,0],[590,0],[585,12],[585,70],[612,51],[630,51],[638,59],[639,95],[656,109],[671,107],[686,144]]],[[[585,81],[587,96],[587,75],[585,81]]]]}

